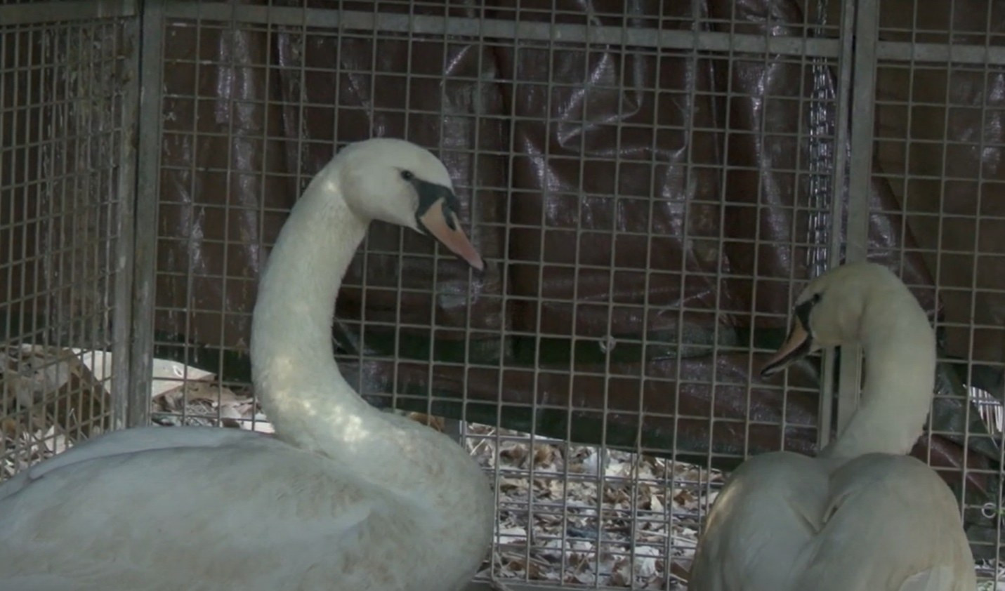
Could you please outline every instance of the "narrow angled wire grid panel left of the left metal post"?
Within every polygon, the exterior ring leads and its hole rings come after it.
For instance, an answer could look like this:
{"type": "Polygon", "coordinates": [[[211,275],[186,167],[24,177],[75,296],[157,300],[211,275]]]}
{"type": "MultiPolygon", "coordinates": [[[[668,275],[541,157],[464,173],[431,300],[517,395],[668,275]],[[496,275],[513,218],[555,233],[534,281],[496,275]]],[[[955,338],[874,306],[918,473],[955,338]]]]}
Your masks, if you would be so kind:
{"type": "Polygon", "coordinates": [[[0,480],[118,424],[130,20],[51,10],[0,25],[0,480]]]}

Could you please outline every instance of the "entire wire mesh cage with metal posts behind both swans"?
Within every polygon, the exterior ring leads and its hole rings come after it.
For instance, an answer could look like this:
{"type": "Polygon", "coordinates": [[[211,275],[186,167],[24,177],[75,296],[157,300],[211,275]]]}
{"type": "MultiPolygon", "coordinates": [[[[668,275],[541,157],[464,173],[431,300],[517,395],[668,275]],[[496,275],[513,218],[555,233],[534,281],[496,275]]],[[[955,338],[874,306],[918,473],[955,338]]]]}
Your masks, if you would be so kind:
{"type": "Polygon", "coordinates": [[[480,578],[682,588],[729,470],[853,412],[853,355],[757,376],[802,284],[868,257],[930,311],[913,454],[1003,579],[1001,2],[80,4],[0,19],[0,478],[127,416],[271,431],[262,264],[338,149],[392,136],[447,165],[487,268],[375,223],[333,339],[491,475],[480,578]]]}

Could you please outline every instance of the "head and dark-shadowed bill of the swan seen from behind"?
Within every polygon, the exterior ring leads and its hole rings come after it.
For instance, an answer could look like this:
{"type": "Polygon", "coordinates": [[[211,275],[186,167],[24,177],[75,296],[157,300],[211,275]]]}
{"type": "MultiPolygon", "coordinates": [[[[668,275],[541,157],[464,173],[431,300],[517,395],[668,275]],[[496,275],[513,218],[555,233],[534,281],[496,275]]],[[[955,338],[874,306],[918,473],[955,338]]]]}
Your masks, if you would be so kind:
{"type": "Polygon", "coordinates": [[[844,264],[821,274],[796,299],[792,330],[785,344],[761,369],[761,377],[774,375],[824,347],[859,342],[866,328],[876,328],[865,325],[895,320],[872,318],[877,315],[866,320],[869,303],[881,298],[896,304],[904,297],[912,303],[906,306],[920,310],[900,279],[873,262],[844,264]]]}

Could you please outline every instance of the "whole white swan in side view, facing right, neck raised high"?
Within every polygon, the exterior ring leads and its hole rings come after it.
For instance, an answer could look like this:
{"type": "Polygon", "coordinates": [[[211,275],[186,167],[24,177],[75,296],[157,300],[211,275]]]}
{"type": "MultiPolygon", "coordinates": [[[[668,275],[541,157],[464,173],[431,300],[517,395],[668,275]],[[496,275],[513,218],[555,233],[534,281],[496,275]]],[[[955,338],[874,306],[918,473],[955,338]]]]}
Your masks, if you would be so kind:
{"type": "Polygon", "coordinates": [[[3,591],[455,591],[493,501],[445,435],[378,411],[333,360],[342,277],[372,219],[481,268],[442,163],[391,139],[311,182],[254,309],[255,388],[277,438],[205,427],[110,433],[0,485],[3,591]]]}

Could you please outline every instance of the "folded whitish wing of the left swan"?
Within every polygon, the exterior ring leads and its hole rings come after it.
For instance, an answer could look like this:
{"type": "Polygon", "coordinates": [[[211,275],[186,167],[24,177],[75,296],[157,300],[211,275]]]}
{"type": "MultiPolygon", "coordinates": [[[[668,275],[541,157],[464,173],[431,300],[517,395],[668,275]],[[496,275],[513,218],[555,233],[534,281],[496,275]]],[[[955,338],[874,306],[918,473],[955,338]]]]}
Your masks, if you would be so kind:
{"type": "MultiPolygon", "coordinates": [[[[292,589],[278,575],[292,569],[306,573],[296,582],[305,589],[315,588],[315,577],[326,588],[333,581],[350,588],[374,576],[367,568],[375,561],[357,554],[374,549],[377,532],[418,536],[401,507],[365,479],[260,439],[111,453],[22,482],[18,494],[0,498],[0,572],[25,586],[43,574],[66,576],[83,590],[115,571],[122,588],[153,590],[160,589],[156,573],[171,569],[191,573],[186,589],[277,591],[292,589]]],[[[178,583],[171,577],[172,588],[178,583]]]]}

